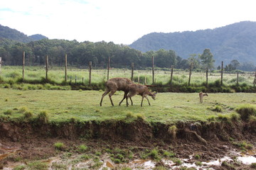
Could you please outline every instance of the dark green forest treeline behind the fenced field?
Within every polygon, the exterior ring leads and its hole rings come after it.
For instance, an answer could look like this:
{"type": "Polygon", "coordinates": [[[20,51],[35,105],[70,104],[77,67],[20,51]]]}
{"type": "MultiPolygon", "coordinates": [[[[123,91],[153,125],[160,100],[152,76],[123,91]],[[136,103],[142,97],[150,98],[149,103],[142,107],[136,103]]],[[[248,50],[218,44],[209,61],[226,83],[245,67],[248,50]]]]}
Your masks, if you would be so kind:
{"type": "Polygon", "coordinates": [[[0,40],[0,57],[3,64],[22,65],[23,51],[26,52],[26,65],[43,65],[48,55],[49,64],[62,66],[65,54],[68,55],[68,64],[78,67],[87,67],[92,62],[93,67],[107,67],[108,58],[111,58],[111,67],[151,67],[151,57],[155,57],[156,67],[176,68],[182,64],[182,58],[172,50],[156,52],[140,52],[127,45],[115,45],[113,42],[78,42],[76,40],[38,40],[28,43],[16,42],[8,39],[0,40]]]}

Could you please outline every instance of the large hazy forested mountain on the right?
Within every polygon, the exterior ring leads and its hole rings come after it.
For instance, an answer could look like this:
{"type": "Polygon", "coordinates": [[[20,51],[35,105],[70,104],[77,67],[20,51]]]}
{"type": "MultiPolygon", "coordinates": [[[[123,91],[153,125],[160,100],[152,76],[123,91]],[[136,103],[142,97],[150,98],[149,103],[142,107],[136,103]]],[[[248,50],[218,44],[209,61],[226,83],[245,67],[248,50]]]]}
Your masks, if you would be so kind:
{"type": "Polygon", "coordinates": [[[149,33],[134,41],[129,47],[142,52],[174,50],[176,55],[188,58],[210,49],[215,64],[231,60],[256,64],[256,22],[242,21],[221,28],[176,33],[149,33]]]}

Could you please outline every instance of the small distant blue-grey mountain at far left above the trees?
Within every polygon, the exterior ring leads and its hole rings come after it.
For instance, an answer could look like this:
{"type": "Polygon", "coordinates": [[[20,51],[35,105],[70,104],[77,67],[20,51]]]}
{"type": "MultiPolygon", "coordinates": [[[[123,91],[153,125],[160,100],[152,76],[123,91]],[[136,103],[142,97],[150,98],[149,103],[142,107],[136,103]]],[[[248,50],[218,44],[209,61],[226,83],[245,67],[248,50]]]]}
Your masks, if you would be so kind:
{"type": "Polygon", "coordinates": [[[18,42],[31,42],[35,40],[41,40],[47,38],[46,36],[36,34],[36,35],[25,35],[18,30],[9,28],[7,26],[0,25],[0,38],[6,38],[9,40],[16,40],[18,42]]]}

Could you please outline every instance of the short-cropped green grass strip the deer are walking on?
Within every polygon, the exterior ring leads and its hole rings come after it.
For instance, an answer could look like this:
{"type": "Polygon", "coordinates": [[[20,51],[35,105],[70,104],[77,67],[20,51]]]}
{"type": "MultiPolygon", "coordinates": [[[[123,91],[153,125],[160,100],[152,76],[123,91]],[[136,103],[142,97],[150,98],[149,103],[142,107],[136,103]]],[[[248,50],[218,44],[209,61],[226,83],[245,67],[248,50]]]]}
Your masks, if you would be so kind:
{"type": "Polygon", "coordinates": [[[102,107],[100,98],[103,91],[49,91],[0,89],[0,116],[22,118],[24,112],[30,111],[35,117],[46,111],[49,120],[62,122],[75,118],[78,120],[127,120],[127,117],[142,117],[145,120],[161,123],[177,121],[207,121],[210,117],[230,115],[243,103],[256,105],[256,94],[208,94],[204,103],[199,103],[197,93],[158,93],[156,101],[149,98],[151,106],[144,100],[141,107],[141,96],[134,96],[134,106],[127,107],[125,101],[118,106],[123,92],[118,91],[112,99],[105,96],[102,107]]]}

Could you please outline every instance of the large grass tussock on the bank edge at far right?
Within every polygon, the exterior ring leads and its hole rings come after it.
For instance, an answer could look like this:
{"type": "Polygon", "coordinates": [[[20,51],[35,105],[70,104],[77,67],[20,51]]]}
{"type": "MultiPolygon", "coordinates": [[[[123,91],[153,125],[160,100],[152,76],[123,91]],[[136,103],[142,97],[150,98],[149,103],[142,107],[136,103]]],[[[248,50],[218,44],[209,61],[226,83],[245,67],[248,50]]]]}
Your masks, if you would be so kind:
{"type": "Polygon", "coordinates": [[[250,115],[256,116],[256,108],[253,105],[250,104],[244,104],[238,106],[238,108],[235,109],[237,113],[240,114],[241,119],[247,121],[250,117],[250,115]]]}

